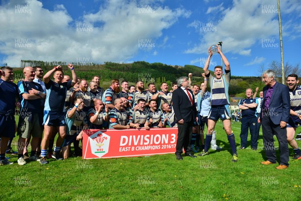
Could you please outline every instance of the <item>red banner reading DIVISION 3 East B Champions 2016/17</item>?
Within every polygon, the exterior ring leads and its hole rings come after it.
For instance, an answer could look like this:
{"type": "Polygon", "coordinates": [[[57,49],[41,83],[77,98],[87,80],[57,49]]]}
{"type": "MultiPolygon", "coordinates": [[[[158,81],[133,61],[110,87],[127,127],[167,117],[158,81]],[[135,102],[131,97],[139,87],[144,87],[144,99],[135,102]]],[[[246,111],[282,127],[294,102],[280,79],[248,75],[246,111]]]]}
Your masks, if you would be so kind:
{"type": "Polygon", "coordinates": [[[178,128],[83,131],[83,159],[135,157],[176,152],[178,128]]]}

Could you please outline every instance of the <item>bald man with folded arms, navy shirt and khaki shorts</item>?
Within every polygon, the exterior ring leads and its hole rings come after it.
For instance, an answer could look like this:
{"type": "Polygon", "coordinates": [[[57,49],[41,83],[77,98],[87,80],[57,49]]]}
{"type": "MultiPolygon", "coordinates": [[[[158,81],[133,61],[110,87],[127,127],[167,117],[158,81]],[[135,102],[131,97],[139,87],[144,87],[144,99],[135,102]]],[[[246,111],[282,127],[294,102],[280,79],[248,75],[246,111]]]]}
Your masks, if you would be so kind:
{"type": "Polygon", "coordinates": [[[17,132],[18,140],[18,164],[25,165],[23,151],[26,139],[32,137],[31,140],[31,156],[30,160],[39,161],[36,150],[39,141],[43,135],[43,103],[46,98],[46,91],[43,90],[41,84],[34,82],[35,69],[33,67],[25,67],[23,70],[24,81],[18,83],[19,93],[22,97],[20,118],[17,132]]]}

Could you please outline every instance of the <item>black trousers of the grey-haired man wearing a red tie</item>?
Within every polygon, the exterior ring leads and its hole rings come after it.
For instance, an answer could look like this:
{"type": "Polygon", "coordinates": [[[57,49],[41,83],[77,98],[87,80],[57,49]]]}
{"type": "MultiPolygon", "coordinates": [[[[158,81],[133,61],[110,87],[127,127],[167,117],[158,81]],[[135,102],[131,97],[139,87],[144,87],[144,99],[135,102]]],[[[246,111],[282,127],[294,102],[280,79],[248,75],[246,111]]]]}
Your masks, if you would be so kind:
{"type": "Polygon", "coordinates": [[[183,125],[178,124],[178,139],[176,145],[176,155],[181,155],[183,153],[183,148],[185,154],[191,153],[190,141],[192,138],[192,127],[193,121],[184,122],[183,125]]]}

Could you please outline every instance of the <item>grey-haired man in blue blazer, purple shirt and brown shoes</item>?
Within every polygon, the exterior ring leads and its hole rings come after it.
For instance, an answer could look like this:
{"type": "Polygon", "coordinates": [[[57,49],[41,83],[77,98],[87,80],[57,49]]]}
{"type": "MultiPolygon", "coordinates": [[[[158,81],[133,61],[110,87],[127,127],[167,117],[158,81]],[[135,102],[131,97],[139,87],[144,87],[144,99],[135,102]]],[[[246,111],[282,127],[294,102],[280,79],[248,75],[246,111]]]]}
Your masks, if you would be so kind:
{"type": "Polygon", "coordinates": [[[262,137],[266,161],[261,164],[276,163],[273,134],[276,135],[280,149],[280,164],[276,169],[288,167],[288,144],[286,140],[286,123],[289,118],[290,100],[288,87],[275,81],[275,72],[266,70],[262,74],[263,100],[258,122],[262,125],[262,137]]]}

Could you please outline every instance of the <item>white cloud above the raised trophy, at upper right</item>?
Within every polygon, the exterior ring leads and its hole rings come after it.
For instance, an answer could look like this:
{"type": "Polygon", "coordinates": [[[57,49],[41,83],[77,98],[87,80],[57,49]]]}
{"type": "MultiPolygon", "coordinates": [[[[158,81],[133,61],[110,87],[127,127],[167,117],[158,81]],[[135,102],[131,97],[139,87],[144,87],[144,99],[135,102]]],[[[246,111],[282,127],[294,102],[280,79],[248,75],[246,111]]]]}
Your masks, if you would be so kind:
{"type": "Polygon", "coordinates": [[[200,30],[200,43],[185,51],[185,53],[207,53],[208,47],[223,41],[223,52],[232,52],[240,55],[251,55],[251,47],[257,41],[266,37],[278,36],[278,20],[274,15],[263,15],[262,4],[268,0],[238,1],[221,15],[210,15],[219,20],[212,19],[209,25],[200,30]]]}

